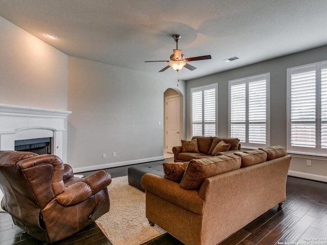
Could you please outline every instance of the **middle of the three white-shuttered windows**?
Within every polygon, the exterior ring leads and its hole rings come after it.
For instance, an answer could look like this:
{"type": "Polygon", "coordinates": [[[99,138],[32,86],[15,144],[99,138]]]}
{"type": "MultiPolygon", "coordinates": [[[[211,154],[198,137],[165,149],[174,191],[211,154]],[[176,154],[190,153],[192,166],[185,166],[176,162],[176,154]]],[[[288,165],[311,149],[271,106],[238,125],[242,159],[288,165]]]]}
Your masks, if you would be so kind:
{"type": "Polygon", "coordinates": [[[269,78],[267,73],[228,83],[228,135],[239,138],[242,147],[269,144],[269,78]]]}

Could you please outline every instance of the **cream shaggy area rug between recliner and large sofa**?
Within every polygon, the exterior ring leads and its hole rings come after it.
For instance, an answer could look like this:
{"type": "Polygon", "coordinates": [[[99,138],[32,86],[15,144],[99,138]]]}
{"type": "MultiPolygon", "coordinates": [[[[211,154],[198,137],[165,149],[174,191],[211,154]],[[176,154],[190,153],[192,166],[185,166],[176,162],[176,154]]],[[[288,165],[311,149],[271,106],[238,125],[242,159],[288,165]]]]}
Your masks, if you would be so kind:
{"type": "Polygon", "coordinates": [[[96,224],[113,245],[140,245],[166,232],[149,225],[145,193],[128,185],[127,176],[113,178],[108,192],[110,210],[96,224]]]}

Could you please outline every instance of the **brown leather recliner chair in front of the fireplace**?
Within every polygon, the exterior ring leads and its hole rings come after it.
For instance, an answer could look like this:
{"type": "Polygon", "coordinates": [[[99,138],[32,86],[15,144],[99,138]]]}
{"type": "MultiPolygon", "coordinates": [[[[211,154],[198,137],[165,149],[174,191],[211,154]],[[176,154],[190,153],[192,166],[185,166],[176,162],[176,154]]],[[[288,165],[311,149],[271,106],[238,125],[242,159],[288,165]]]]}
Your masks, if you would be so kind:
{"type": "Polygon", "coordinates": [[[109,211],[105,170],[77,178],[55,155],[0,151],[1,206],[15,225],[43,242],[70,236],[109,211]]]}

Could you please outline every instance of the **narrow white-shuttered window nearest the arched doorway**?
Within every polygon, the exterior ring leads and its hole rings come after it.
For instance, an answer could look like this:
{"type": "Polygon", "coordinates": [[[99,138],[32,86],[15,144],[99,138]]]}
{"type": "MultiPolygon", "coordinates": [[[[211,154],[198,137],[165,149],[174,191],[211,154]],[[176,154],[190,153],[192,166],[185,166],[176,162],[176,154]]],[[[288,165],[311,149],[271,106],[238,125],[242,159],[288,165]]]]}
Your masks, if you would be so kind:
{"type": "Polygon", "coordinates": [[[192,136],[217,134],[218,84],[191,89],[192,136]]]}

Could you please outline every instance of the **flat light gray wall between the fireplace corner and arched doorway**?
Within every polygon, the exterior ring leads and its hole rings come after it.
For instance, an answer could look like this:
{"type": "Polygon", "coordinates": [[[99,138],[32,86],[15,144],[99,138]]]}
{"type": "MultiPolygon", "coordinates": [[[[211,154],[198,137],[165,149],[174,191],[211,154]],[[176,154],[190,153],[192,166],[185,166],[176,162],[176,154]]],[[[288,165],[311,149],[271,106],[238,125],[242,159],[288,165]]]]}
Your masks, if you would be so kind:
{"type": "Polygon", "coordinates": [[[177,77],[69,57],[69,164],[85,171],[163,159],[164,93],[176,86],[177,77]]]}

